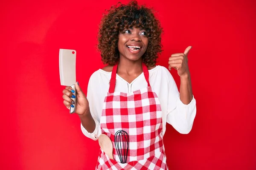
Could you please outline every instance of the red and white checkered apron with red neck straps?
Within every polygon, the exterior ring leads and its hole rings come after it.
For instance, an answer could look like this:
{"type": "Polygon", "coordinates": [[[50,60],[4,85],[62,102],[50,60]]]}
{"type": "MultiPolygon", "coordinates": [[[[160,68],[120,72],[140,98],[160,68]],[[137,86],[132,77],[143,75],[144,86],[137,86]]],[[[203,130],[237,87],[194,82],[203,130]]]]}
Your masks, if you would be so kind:
{"type": "Polygon", "coordinates": [[[103,134],[113,143],[113,158],[102,149],[96,170],[168,170],[163,147],[162,111],[157,94],[148,81],[148,68],[143,63],[143,73],[148,87],[131,92],[115,92],[117,65],[113,67],[110,88],[105,97],[100,120],[103,134]],[[129,135],[129,150],[126,163],[120,163],[114,143],[118,130],[129,135]]]}

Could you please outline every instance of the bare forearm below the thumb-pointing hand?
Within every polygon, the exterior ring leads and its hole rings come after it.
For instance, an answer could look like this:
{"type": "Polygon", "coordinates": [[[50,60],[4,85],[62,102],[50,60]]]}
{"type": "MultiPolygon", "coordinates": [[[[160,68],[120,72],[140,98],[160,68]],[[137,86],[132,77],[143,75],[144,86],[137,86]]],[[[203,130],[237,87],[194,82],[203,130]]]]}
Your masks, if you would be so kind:
{"type": "Polygon", "coordinates": [[[193,99],[190,74],[180,77],[180,100],[188,105],[193,99]]]}

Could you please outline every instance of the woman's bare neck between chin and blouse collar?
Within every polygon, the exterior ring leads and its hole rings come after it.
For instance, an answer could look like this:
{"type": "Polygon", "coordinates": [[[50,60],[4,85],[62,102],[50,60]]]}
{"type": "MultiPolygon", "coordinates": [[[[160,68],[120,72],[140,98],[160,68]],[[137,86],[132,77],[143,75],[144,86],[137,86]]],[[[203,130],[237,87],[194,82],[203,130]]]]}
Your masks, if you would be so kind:
{"type": "Polygon", "coordinates": [[[117,72],[123,74],[141,74],[143,72],[142,58],[137,61],[131,61],[125,57],[120,57],[117,72]]]}

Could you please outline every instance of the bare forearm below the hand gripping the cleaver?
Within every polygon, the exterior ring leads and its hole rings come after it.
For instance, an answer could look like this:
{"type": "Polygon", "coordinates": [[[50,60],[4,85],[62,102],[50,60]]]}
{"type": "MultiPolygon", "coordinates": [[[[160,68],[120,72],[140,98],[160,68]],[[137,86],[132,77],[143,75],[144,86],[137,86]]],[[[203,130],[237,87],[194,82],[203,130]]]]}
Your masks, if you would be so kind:
{"type": "Polygon", "coordinates": [[[96,124],[95,124],[95,121],[90,113],[90,109],[88,109],[88,111],[85,112],[84,114],[79,115],[79,118],[81,120],[81,124],[83,125],[83,127],[89,133],[93,133],[93,131],[95,130],[96,124]]]}

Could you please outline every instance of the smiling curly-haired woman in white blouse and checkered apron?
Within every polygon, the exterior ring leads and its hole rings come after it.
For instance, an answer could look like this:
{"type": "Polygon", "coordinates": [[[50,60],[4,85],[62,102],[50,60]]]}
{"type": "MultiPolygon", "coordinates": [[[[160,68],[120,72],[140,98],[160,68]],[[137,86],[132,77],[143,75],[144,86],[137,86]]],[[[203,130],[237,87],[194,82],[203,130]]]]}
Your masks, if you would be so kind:
{"type": "Polygon", "coordinates": [[[170,72],[156,66],[161,52],[159,21],[150,9],[137,2],[111,7],[102,19],[99,45],[106,67],[95,71],[89,80],[87,97],[76,83],[63,91],[64,105],[74,107],[70,97],[77,98],[76,113],[85,136],[97,140],[103,133],[113,142],[113,159],[100,150],[96,169],[166,170],[163,135],[166,122],[179,133],[189,133],[196,114],[187,55],[172,54],[169,69],[180,76],[180,93],[170,72]],[[125,164],[114,145],[114,135],[125,130],[129,151],[125,164]]]}

